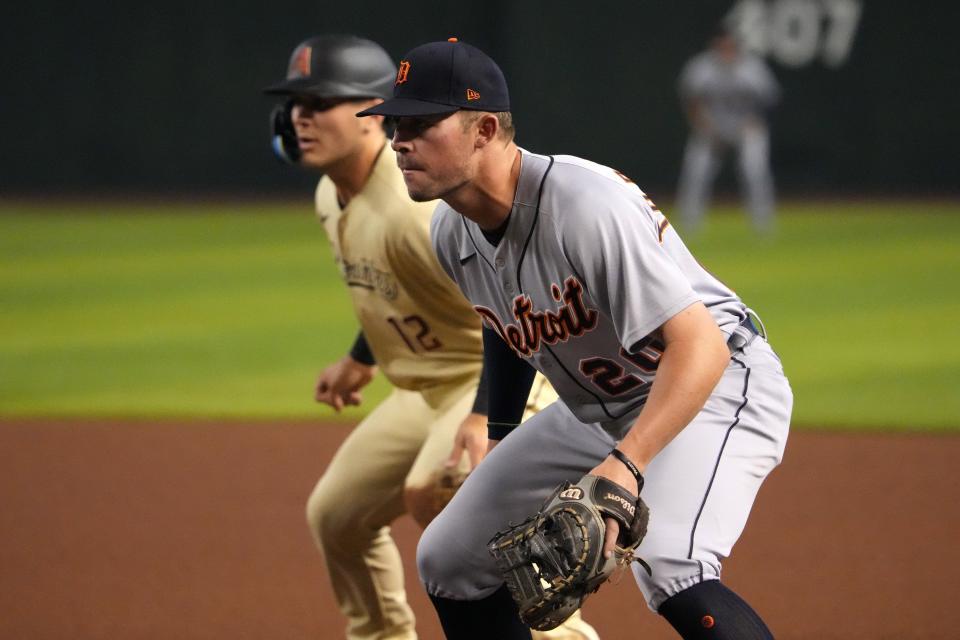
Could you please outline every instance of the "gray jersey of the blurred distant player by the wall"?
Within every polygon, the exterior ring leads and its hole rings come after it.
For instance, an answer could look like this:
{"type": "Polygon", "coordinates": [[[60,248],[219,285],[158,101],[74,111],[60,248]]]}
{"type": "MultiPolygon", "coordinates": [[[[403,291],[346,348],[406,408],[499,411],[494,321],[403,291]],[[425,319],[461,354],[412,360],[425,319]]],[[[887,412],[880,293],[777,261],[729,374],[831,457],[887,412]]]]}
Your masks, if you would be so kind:
{"type": "Polygon", "coordinates": [[[740,54],[725,63],[713,51],[695,56],[680,74],[680,95],[701,102],[714,132],[735,141],[750,120],[762,120],[780,87],[760,58],[740,54]]]}

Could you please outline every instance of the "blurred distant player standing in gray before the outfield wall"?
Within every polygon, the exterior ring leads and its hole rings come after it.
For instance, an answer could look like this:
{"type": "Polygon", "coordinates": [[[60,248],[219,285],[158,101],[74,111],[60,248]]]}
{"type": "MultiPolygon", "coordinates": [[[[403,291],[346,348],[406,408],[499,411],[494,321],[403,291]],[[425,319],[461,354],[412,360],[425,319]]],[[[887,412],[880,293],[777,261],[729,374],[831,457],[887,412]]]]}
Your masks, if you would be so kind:
{"type": "Polygon", "coordinates": [[[710,48],[686,64],[679,84],[690,124],[678,187],[684,229],[700,226],[723,157],[736,150],[754,227],[769,231],[774,194],[766,113],[780,96],[770,69],[721,29],[710,48]]]}

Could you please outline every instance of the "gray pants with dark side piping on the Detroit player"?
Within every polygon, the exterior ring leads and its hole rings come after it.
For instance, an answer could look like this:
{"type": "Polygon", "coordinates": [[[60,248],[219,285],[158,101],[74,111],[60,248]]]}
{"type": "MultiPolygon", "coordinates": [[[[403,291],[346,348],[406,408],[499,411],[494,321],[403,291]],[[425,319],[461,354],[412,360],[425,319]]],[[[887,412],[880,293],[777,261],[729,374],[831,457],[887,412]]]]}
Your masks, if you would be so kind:
{"type": "MultiPolygon", "coordinates": [[[[643,499],[650,527],[635,565],[648,606],[703,580],[740,537],[767,474],[780,463],[793,395],[780,361],[760,337],[735,352],[703,410],[647,467],[643,499]]],[[[557,401],[511,433],[470,474],[420,539],[427,591],[454,600],[485,598],[503,584],[486,549],[508,523],[536,512],[560,483],[576,481],[629,428],[584,424],[557,401]]]]}

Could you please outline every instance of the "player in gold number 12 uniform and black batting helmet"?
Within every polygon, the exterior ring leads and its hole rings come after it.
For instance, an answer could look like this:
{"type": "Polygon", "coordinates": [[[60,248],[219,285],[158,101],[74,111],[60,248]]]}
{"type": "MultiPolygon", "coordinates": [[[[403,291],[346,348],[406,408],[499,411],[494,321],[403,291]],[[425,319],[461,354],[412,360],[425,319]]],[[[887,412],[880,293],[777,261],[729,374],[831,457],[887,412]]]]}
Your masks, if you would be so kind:
{"type": "MultiPolygon", "coordinates": [[[[350,640],[417,637],[389,525],[410,513],[425,527],[487,446],[480,321],[431,248],[436,203],[408,197],[383,119],[355,115],[391,96],[395,79],[380,45],[324,35],[297,46],[286,80],[265,90],[286,98],[271,116],[274,151],[324,174],[317,215],[360,323],[349,354],[320,374],[315,398],[338,412],[360,404],[378,368],[394,387],[307,503],[350,640]]],[[[540,378],[528,411],[555,398],[540,378]]],[[[597,635],[576,616],[535,637],[597,635]]]]}

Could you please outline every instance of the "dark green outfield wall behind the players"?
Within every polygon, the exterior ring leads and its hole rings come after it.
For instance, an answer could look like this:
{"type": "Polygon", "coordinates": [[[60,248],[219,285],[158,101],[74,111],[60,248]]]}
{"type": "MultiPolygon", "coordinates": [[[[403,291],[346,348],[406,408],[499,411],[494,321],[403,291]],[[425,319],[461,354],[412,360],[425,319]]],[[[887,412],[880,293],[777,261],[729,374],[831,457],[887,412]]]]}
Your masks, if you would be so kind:
{"type": "Polygon", "coordinates": [[[395,57],[452,35],[478,44],[508,76],[521,144],[669,193],[685,133],[677,73],[735,5],[784,87],[781,191],[956,193],[960,72],[942,27],[960,9],[946,0],[169,0],[33,3],[5,18],[0,194],[306,187],[269,154],[258,90],[323,31],[395,57]]]}

